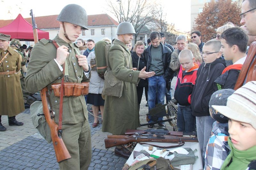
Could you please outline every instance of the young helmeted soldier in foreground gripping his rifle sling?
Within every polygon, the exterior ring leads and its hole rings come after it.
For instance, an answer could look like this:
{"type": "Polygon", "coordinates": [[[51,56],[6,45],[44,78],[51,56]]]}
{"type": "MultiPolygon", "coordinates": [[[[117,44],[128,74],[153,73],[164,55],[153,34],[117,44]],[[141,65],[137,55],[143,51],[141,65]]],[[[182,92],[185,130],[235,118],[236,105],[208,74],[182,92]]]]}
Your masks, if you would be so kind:
{"type": "MultiPolygon", "coordinates": [[[[31,93],[46,86],[49,91],[51,85],[61,83],[62,78],[65,82],[89,81],[90,67],[86,56],[80,54],[78,46],[74,43],[82,30],[88,30],[85,9],[76,4],[69,4],[62,9],[57,20],[60,29],[53,41],[42,39],[31,51],[25,78],[26,88],[31,93]]],[[[55,111],[54,120],[56,124],[62,121],[61,137],[72,157],[61,161],[60,169],[88,169],[91,161],[91,134],[84,96],[63,97],[61,120],[60,97],[55,95],[57,94],[54,94],[54,91],[50,94],[52,110],[55,111]]]]}

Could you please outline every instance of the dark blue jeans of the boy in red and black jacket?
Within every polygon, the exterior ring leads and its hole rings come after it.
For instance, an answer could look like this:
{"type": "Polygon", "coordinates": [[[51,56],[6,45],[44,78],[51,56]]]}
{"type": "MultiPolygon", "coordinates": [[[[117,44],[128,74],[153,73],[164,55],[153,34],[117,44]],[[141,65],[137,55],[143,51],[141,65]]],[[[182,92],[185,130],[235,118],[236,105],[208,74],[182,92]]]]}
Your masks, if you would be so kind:
{"type": "Polygon", "coordinates": [[[177,127],[179,131],[196,132],[196,117],[192,115],[190,105],[178,107],[177,127]]]}

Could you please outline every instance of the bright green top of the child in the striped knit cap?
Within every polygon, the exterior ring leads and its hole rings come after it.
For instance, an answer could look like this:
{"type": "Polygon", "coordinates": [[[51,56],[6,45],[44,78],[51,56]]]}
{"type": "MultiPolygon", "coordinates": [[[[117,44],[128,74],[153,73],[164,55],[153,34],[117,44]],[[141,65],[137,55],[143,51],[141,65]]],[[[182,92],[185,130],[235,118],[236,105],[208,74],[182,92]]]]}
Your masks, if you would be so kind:
{"type": "MultiPolygon", "coordinates": [[[[248,139],[250,140],[250,139],[248,139]]],[[[228,138],[228,145],[230,146],[230,154],[225,159],[221,170],[246,169],[252,160],[256,160],[256,146],[253,146],[246,151],[240,151],[234,148],[231,139],[228,138]]]]}

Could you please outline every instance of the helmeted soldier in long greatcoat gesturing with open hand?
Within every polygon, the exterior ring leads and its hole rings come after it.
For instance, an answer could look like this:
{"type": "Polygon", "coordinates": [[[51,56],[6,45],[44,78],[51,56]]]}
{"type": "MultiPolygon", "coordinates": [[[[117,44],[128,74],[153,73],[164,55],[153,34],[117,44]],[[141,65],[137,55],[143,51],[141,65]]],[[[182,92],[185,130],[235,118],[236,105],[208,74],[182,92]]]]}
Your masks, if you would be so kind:
{"type": "MultiPolygon", "coordinates": [[[[102,132],[121,135],[126,129],[140,126],[136,84],[141,78],[152,77],[155,73],[145,72],[146,67],[141,71],[132,70],[131,53],[126,44],[132,41],[135,33],[130,22],[120,23],[116,30],[117,38],[109,49],[109,68],[117,79],[123,81],[123,92],[121,97],[105,96],[102,132]]],[[[115,148],[116,155],[129,157],[125,152],[121,146],[115,148]]]]}

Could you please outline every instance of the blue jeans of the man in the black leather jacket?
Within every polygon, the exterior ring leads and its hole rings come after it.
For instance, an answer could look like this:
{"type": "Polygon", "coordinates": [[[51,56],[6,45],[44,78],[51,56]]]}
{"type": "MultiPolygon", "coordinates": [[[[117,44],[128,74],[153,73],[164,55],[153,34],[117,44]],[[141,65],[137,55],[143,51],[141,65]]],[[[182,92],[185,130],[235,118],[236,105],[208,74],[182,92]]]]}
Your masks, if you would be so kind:
{"type": "MultiPolygon", "coordinates": [[[[165,104],[165,93],[166,93],[166,81],[164,75],[153,76],[148,78],[148,92],[147,92],[147,102],[148,111],[155,107],[155,101],[157,98],[157,104],[165,104]]],[[[148,119],[153,122],[151,116],[148,115],[148,119]]],[[[158,121],[163,120],[163,117],[158,117],[158,121]]]]}

